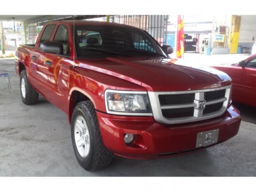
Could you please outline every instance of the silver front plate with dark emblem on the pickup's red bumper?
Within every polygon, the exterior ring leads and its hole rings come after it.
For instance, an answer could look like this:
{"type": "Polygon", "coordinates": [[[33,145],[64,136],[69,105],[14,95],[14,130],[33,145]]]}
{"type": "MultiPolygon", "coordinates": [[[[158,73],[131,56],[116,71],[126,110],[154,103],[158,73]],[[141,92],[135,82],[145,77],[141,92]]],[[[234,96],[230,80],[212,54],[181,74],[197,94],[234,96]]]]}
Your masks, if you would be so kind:
{"type": "Polygon", "coordinates": [[[218,142],[219,129],[210,130],[206,132],[199,132],[197,134],[197,144],[196,147],[204,147],[212,145],[218,142]]]}

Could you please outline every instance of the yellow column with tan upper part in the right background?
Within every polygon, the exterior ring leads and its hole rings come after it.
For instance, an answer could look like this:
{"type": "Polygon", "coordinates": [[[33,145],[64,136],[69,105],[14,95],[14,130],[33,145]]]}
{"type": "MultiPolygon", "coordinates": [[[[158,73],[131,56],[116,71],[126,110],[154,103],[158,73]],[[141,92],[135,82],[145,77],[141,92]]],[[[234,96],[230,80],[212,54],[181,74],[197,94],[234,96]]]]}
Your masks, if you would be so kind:
{"type": "Polygon", "coordinates": [[[230,33],[229,33],[229,45],[228,45],[229,53],[238,52],[240,25],[241,25],[241,16],[232,15],[230,33]]]}

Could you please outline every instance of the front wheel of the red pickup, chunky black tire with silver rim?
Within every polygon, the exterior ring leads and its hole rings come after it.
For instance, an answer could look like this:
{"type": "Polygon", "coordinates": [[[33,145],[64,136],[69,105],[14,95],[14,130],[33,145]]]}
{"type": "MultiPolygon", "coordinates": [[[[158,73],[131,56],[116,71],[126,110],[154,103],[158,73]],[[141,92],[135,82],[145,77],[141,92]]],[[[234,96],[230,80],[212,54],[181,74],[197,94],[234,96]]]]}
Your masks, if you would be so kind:
{"type": "Polygon", "coordinates": [[[71,136],[75,156],[84,169],[99,170],[110,165],[113,153],[102,143],[91,101],[76,104],[71,120],[71,136]]]}

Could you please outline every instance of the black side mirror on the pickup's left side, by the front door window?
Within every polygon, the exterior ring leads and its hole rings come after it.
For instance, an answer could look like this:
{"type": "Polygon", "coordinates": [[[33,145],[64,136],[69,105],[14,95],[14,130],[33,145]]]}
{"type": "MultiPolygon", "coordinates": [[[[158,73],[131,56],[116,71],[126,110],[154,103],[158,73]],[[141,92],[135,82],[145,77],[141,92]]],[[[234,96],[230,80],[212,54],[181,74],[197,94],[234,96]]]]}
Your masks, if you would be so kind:
{"type": "Polygon", "coordinates": [[[63,45],[59,41],[44,41],[40,44],[40,50],[46,53],[63,54],[63,45]]]}

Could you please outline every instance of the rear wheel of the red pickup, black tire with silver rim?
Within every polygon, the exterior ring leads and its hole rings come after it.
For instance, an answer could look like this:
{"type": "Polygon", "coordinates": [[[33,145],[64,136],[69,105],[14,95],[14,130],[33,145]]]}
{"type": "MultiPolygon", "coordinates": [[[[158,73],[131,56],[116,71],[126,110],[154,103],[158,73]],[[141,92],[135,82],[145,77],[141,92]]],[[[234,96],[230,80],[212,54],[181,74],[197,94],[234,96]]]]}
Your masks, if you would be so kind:
{"type": "Polygon", "coordinates": [[[38,102],[38,93],[31,87],[26,70],[20,73],[19,86],[24,104],[31,105],[38,102]]]}

